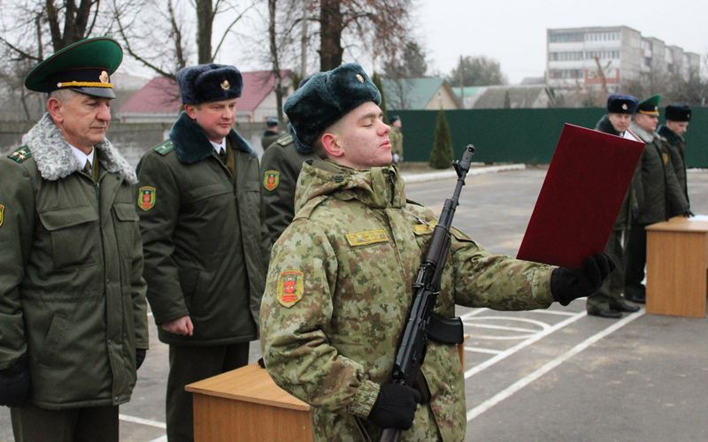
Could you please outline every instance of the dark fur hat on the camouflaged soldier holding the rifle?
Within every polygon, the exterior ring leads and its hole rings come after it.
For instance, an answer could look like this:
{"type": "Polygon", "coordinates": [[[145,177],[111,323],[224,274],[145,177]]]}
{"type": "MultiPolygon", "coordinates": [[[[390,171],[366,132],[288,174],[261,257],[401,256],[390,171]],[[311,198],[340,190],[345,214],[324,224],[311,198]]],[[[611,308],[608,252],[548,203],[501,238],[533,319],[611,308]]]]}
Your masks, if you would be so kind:
{"type": "Polygon", "coordinates": [[[288,97],[284,110],[293,139],[301,148],[311,149],[327,127],[366,102],[381,104],[381,92],[360,65],[348,63],[312,75],[288,97]]]}

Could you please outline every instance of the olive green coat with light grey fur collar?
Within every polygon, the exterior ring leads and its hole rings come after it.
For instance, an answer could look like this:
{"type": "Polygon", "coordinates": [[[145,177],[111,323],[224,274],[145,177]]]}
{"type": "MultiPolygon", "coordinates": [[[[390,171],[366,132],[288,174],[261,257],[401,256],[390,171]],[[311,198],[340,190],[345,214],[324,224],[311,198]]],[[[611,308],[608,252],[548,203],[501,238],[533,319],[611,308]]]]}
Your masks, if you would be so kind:
{"type": "Polygon", "coordinates": [[[29,360],[29,402],[117,405],[148,348],[135,172],[109,141],[98,182],[48,114],[0,160],[0,370],[29,360]]]}

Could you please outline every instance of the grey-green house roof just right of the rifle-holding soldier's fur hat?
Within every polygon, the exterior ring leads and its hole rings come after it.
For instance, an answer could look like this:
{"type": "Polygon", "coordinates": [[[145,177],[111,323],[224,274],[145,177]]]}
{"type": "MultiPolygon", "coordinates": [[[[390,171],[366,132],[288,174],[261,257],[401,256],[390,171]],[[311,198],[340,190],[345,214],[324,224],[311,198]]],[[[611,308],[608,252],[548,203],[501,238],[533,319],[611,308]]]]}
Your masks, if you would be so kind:
{"type": "Polygon", "coordinates": [[[390,109],[425,109],[440,88],[446,85],[442,78],[382,79],[383,94],[390,109]],[[400,102],[404,103],[400,103],[400,102]]]}

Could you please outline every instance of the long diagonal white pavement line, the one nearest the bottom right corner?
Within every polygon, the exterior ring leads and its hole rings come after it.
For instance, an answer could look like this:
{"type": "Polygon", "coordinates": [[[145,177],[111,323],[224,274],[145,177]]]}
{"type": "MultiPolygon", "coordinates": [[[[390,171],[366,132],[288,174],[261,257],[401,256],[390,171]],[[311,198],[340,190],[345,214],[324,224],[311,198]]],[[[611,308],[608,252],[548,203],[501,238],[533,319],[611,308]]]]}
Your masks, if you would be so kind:
{"type": "MultiPolygon", "coordinates": [[[[521,390],[525,386],[531,384],[539,377],[542,377],[544,374],[548,373],[550,370],[553,370],[556,367],[558,367],[558,365],[560,365],[561,363],[566,362],[568,359],[572,358],[575,354],[579,354],[581,351],[583,351],[586,348],[590,347],[591,345],[595,344],[598,340],[603,339],[605,336],[609,335],[613,331],[620,330],[620,328],[631,323],[636,318],[643,316],[644,311],[645,311],[644,309],[640,309],[636,313],[633,313],[632,315],[629,315],[629,316],[621,319],[620,321],[616,322],[615,324],[612,324],[611,326],[607,327],[603,331],[597,332],[596,334],[590,336],[588,339],[585,339],[584,341],[582,341],[577,346],[568,350],[566,353],[561,354],[556,359],[553,359],[550,362],[547,362],[540,369],[535,370],[534,372],[530,373],[526,377],[520,378],[517,382],[513,383],[512,385],[509,385],[501,392],[497,392],[494,396],[492,396],[488,400],[485,400],[477,407],[471,408],[470,410],[467,411],[467,422],[470,422],[478,415],[481,415],[485,411],[489,410],[489,408],[494,407],[496,404],[498,404],[502,400],[505,400],[506,398],[512,396],[513,393],[518,392],[519,390],[521,390]]],[[[583,313],[585,313],[585,312],[583,312],[583,313]]]]}

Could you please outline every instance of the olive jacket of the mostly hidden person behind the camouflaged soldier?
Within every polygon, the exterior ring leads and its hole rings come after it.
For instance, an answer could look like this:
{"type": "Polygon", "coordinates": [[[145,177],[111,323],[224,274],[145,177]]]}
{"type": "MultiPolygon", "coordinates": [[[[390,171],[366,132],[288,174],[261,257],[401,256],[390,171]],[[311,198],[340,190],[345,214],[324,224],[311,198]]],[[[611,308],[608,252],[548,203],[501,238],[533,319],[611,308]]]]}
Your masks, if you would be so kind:
{"type": "Polygon", "coordinates": [[[263,206],[263,237],[270,252],[273,242],[290,225],[295,214],[295,186],[300,169],[306,160],[318,159],[312,150],[296,148],[290,134],[283,135],[260,158],[260,176],[263,179],[261,196],[263,206]]]}

